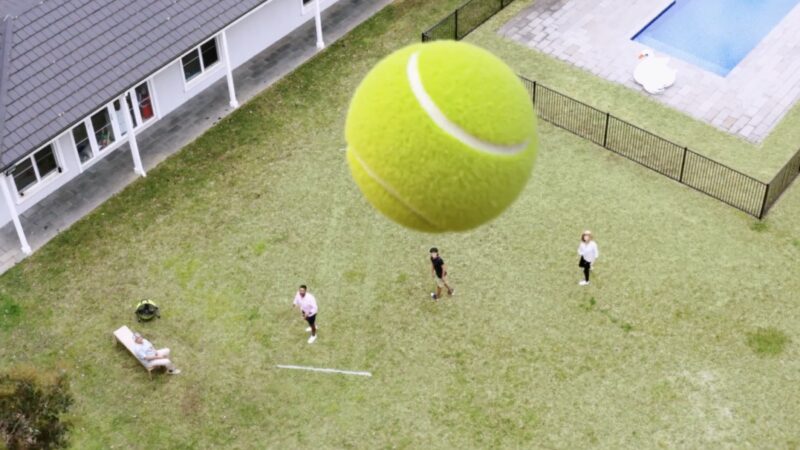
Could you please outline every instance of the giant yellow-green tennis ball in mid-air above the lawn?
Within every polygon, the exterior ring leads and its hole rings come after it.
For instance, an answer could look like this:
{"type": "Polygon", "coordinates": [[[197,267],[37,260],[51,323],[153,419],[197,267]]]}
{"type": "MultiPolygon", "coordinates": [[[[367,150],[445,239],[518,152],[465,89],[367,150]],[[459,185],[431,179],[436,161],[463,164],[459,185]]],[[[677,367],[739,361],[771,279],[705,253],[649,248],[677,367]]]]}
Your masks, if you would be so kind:
{"type": "Polygon", "coordinates": [[[514,72],[473,45],[400,49],[356,90],[347,161],[367,200],[422,231],[477,227],[503,212],[530,178],[536,117],[514,72]]]}

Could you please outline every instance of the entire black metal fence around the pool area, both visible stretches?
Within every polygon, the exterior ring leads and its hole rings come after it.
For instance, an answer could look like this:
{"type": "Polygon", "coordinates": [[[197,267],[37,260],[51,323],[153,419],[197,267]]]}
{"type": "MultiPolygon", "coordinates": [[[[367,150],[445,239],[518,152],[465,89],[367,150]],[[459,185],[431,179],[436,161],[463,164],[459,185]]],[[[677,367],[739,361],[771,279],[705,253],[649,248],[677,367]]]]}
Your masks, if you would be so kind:
{"type": "MultiPolygon", "coordinates": [[[[471,0],[422,33],[422,41],[460,40],[513,1],[471,0]]],[[[800,174],[800,150],[764,183],[608,112],[520,79],[541,119],[759,219],[800,174]]]]}

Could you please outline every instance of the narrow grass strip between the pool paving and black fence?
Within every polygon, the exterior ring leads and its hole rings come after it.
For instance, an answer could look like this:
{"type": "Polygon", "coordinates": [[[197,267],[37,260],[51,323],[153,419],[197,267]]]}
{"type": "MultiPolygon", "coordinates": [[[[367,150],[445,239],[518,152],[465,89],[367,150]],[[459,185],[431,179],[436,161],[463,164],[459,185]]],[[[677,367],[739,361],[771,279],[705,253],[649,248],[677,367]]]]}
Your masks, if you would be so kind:
{"type": "Polygon", "coordinates": [[[772,180],[800,149],[800,105],[795,106],[762,143],[754,145],[659,103],[641,91],[599,78],[496,33],[499,27],[533,3],[533,0],[516,0],[469,34],[466,40],[491,50],[527,78],[764,182],[772,180]]]}

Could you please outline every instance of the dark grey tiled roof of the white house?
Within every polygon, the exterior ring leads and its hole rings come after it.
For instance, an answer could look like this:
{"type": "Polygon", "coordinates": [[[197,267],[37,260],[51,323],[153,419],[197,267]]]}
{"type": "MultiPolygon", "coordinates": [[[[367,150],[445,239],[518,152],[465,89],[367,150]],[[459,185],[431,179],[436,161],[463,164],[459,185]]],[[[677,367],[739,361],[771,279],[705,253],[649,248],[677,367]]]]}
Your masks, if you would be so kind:
{"type": "Polygon", "coordinates": [[[0,168],[264,1],[0,0],[0,168]]]}

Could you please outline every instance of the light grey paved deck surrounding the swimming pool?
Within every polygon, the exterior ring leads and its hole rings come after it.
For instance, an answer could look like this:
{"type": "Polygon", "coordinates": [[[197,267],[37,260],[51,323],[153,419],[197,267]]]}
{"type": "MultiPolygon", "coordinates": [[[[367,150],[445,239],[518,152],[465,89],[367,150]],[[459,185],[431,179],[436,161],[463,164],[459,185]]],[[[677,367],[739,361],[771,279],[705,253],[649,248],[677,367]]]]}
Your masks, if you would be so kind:
{"type": "MultiPolygon", "coordinates": [[[[671,57],[675,84],[651,95],[633,81],[631,38],[671,0],[538,0],[503,25],[501,35],[638,90],[642,95],[760,143],[800,98],[800,5],[722,77],[671,57]]],[[[657,56],[669,56],[659,53],[657,56]]]]}

